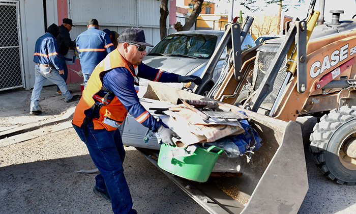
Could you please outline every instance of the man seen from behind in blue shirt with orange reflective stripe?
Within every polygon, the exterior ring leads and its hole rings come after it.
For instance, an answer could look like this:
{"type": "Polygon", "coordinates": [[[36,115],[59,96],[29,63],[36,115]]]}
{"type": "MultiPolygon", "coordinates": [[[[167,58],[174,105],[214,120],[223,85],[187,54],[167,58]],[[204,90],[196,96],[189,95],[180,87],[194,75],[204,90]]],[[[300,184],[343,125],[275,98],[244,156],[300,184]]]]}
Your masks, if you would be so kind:
{"type": "Polygon", "coordinates": [[[88,29],[76,39],[85,86],[95,66],[114,50],[109,36],[99,30],[98,20],[91,18],[86,26],[88,29]]]}

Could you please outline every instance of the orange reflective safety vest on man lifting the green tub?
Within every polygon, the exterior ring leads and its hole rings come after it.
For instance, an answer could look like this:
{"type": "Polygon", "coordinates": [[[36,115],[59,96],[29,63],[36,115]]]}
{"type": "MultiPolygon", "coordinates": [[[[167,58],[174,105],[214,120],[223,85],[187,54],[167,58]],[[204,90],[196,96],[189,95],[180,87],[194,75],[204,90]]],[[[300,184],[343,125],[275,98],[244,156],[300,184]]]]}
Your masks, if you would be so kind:
{"type": "Polygon", "coordinates": [[[118,50],[113,50],[95,67],[86,83],[82,97],[75,108],[73,124],[81,127],[83,123],[93,121],[94,129],[105,128],[108,131],[113,131],[124,122],[127,110],[113,92],[103,87],[100,78],[103,72],[117,67],[127,68],[133,75],[135,82],[138,83],[137,66],[134,66],[134,74],[118,50]]]}

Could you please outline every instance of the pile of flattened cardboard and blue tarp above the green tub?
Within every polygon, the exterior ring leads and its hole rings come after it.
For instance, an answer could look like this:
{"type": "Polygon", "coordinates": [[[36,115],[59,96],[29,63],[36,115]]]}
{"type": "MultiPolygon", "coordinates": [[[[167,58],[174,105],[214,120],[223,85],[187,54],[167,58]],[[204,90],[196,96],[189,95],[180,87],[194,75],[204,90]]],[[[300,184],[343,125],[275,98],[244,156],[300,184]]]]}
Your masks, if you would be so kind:
{"type": "MultiPolygon", "coordinates": [[[[258,149],[261,139],[250,126],[248,116],[218,101],[182,100],[170,108],[150,108],[180,139],[177,147],[223,148],[228,157],[238,157],[258,149]]],[[[187,155],[186,154],[186,155],[187,155]]]]}

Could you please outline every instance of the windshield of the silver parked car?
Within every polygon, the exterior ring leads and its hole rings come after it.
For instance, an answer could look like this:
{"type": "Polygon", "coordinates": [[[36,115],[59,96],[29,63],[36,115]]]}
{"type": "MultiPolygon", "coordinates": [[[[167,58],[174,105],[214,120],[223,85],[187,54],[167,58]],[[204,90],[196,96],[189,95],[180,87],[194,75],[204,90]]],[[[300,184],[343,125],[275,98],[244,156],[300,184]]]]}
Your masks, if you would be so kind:
{"type": "Polygon", "coordinates": [[[172,56],[209,59],[218,37],[201,34],[175,34],[165,37],[149,53],[149,56],[172,56]]]}

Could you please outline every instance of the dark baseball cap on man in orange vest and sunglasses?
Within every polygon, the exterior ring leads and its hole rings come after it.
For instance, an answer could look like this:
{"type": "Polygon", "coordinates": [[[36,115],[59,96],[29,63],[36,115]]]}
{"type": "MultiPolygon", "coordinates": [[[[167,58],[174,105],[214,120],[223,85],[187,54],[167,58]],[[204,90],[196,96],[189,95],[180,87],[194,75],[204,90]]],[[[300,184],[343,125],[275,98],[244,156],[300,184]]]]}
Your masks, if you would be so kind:
{"type": "Polygon", "coordinates": [[[139,45],[151,46],[152,44],[146,43],[146,38],[144,37],[144,32],[140,28],[127,28],[121,32],[120,36],[117,38],[118,43],[135,43],[139,45]]]}

